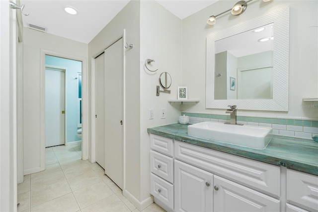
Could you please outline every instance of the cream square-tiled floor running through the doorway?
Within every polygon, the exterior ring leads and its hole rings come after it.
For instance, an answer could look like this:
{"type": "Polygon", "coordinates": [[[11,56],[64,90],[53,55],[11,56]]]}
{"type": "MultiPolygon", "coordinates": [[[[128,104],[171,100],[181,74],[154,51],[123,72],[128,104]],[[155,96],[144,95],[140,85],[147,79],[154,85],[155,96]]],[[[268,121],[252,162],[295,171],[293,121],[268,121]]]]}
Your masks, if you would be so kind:
{"type": "MultiPolygon", "coordinates": [[[[97,163],[81,160],[81,144],[45,149],[46,170],[18,184],[18,212],[139,212],[97,163]]],[[[164,212],[153,203],[143,212],[164,212]]]]}

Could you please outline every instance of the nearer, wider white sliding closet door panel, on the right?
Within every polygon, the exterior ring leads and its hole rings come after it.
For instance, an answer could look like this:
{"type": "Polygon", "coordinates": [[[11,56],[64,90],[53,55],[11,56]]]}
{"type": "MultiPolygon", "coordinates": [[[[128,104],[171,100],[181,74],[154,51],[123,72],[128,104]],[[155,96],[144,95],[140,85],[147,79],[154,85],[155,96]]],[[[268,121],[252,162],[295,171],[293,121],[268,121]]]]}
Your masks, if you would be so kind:
{"type": "Polygon", "coordinates": [[[105,50],[105,174],[123,189],[123,44],[105,50]]]}

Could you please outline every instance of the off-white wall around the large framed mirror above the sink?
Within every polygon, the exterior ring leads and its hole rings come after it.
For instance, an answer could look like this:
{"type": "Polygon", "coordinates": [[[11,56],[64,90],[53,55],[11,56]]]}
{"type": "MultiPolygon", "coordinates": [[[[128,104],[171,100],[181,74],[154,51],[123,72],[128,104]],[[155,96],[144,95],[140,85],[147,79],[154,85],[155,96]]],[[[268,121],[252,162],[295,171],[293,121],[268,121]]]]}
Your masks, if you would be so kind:
{"type": "Polygon", "coordinates": [[[290,65],[289,65],[289,111],[239,110],[239,115],[281,115],[318,117],[318,108],[303,108],[303,98],[318,97],[318,1],[317,0],[273,0],[251,1],[246,11],[239,15],[230,12],[217,17],[214,26],[207,18],[219,14],[236,3],[236,0],[220,0],[211,6],[182,20],[182,83],[201,101],[188,111],[224,113],[220,109],[205,108],[206,36],[267,12],[290,6],[290,65]],[[311,27],[316,26],[316,27],[311,27]],[[195,71],[194,71],[195,70],[195,71]]]}

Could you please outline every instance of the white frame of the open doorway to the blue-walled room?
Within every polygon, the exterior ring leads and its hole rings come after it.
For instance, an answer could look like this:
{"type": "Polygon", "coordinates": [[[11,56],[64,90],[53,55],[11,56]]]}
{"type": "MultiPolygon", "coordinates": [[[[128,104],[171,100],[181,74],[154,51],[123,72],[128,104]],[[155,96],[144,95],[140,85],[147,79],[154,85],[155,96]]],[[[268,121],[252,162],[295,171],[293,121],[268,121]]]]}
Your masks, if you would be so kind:
{"type": "Polygon", "coordinates": [[[82,62],[82,160],[87,160],[88,155],[88,73],[86,58],[54,52],[46,49],[41,49],[40,55],[40,171],[43,171],[45,170],[45,55],[62,57],[82,62]]]}

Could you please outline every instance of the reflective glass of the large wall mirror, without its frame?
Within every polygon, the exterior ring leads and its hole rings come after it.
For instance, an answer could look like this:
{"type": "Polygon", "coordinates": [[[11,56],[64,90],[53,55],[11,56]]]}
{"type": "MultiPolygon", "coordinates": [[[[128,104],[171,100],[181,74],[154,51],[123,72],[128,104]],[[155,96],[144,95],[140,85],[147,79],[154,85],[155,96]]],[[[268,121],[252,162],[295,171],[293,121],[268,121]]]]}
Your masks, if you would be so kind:
{"type": "Polygon", "coordinates": [[[214,99],[272,99],[273,48],[273,23],[215,41],[214,99]]]}

